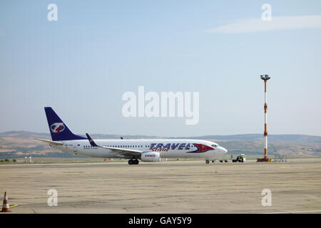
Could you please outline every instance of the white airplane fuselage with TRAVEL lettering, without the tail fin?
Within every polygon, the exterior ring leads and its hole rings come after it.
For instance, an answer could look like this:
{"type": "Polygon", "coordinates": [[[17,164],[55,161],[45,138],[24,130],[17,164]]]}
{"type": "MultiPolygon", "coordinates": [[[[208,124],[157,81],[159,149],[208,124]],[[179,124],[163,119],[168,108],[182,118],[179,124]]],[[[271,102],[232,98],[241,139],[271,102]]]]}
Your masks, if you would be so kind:
{"type": "MultiPolygon", "coordinates": [[[[112,150],[93,147],[88,140],[64,140],[63,145],[51,144],[63,152],[74,155],[101,158],[133,158],[133,156],[120,155],[112,150]]],[[[106,147],[117,147],[128,150],[139,150],[141,152],[159,152],[161,158],[170,157],[202,157],[214,158],[227,152],[215,142],[208,140],[179,140],[179,139],[148,139],[148,140],[95,140],[97,145],[106,147]]],[[[139,158],[139,157],[138,157],[139,158]]]]}

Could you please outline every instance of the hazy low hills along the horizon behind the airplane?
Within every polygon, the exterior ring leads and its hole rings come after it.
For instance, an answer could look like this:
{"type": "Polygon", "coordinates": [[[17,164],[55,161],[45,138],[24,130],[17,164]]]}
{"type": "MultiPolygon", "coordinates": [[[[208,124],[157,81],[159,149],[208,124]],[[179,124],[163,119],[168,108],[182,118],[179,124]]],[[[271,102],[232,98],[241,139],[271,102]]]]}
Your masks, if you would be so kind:
{"type": "MultiPolygon", "coordinates": [[[[83,135],[86,137],[85,135],[83,135]]],[[[93,138],[138,139],[162,138],[148,135],[103,135],[91,134],[93,138]]],[[[51,139],[49,133],[10,131],[0,133],[0,158],[6,157],[79,157],[50,148],[34,138],[51,139]]],[[[163,137],[165,138],[165,137],[163,137]]],[[[263,155],[263,134],[246,135],[205,135],[181,138],[212,140],[228,149],[228,154],[263,155]]],[[[288,157],[321,157],[321,137],[312,135],[269,135],[268,152],[285,154],[288,157]]]]}

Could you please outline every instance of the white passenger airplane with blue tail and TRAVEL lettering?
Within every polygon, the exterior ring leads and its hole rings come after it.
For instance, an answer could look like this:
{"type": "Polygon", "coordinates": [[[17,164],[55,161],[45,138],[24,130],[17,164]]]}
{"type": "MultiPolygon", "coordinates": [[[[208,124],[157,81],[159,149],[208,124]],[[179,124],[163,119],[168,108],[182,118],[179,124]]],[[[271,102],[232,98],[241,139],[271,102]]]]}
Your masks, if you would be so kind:
{"type": "Polygon", "coordinates": [[[228,150],[215,142],[193,139],[109,139],[93,140],[74,135],[51,107],[44,108],[51,133],[51,140],[36,138],[49,143],[62,152],[99,158],[128,159],[129,165],[142,162],[160,162],[161,158],[205,158],[206,164],[228,150]]]}

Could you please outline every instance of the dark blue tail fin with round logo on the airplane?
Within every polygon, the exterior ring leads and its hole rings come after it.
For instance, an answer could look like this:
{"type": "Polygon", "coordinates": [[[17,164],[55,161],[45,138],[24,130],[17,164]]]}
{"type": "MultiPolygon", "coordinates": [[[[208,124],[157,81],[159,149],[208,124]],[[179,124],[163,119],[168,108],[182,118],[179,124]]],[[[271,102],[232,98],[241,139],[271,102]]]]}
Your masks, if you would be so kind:
{"type": "Polygon", "coordinates": [[[46,117],[48,120],[49,130],[53,141],[62,140],[86,140],[78,135],[73,135],[71,130],[63,123],[51,107],[45,107],[46,117]]]}

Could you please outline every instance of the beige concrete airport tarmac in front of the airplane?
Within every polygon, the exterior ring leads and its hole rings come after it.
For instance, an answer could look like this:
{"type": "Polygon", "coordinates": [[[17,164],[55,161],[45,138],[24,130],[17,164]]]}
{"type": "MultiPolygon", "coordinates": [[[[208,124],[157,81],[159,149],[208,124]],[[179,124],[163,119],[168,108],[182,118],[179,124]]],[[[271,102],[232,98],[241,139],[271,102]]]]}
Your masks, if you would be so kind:
{"type": "Polygon", "coordinates": [[[321,158],[0,165],[4,191],[11,213],[321,213],[321,158]]]}

